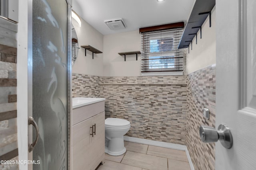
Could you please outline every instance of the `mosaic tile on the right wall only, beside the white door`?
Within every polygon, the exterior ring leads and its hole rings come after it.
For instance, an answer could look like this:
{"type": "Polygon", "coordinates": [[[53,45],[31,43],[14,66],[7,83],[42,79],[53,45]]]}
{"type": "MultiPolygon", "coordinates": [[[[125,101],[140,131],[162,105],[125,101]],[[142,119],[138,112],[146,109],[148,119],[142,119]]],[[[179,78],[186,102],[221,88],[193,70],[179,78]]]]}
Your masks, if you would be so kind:
{"type": "Polygon", "coordinates": [[[196,170],[214,170],[215,144],[202,143],[199,127],[215,127],[215,65],[208,66],[186,76],[187,116],[186,146],[196,170]],[[202,109],[210,110],[210,119],[205,119],[202,109]]]}

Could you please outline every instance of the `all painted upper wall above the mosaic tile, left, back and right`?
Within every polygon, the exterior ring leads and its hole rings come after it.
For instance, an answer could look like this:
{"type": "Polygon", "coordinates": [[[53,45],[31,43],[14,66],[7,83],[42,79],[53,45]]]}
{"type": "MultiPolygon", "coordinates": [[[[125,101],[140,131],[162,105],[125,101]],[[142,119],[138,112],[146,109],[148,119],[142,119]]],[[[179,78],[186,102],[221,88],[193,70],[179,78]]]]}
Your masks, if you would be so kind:
{"type": "MultiPolygon", "coordinates": [[[[215,30],[215,7],[212,9],[212,26],[209,27],[209,16],[202,25],[202,39],[198,31],[198,41],[192,41],[190,53],[186,50],[186,74],[200,70],[206,66],[216,63],[216,30],[215,30]]],[[[102,35],[86,21],[82,20],[79,27],[76,21],[72,23],[76,29],[79,46],[91,45],[99,49],[103,54],[95,54],[92,59],[92,53],[80,48],[78,59],[73,66],[73,73],[89,74],[95,76],[141,76],[140,55],[136,61],[135,55],[118,55],[120,52],[140,51],[140,33],[139,31],[130,31],[110,35],[102,35]]]]}

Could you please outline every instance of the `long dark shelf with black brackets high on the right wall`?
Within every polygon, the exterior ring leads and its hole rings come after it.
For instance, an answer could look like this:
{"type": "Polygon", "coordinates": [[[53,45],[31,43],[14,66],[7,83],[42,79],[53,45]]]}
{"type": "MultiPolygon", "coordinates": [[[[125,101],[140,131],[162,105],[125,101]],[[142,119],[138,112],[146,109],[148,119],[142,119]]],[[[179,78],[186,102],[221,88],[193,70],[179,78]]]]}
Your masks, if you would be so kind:
{"type": "Polygon", "coordinates": [[[184,28],[178,49],[188,48],[195,36],[197,44],[197,32],[200,29],[200,38],[202,38],[202,25],[208,15],[210,15],[211,27],[211,11],[214,6],[215,0],[196,0],[188,23],[184,28]]]}

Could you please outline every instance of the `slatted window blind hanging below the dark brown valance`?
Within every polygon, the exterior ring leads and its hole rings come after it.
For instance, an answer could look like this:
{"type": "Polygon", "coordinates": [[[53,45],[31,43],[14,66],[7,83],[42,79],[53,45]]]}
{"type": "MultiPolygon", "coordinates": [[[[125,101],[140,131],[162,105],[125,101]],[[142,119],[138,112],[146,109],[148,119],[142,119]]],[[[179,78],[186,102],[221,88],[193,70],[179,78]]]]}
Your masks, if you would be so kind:
{"type": "Polygon", "coordinates": [[[183,71],[183,28],[141,33],[141,72],[183,71]]]}

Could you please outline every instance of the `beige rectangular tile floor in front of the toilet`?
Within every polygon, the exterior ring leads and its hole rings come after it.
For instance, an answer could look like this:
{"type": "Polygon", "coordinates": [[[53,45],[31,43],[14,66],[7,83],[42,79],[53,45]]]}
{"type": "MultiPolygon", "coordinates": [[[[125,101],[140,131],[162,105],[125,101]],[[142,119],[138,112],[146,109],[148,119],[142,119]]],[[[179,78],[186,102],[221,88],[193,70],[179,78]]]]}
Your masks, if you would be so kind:
{"type": "Polygon", "coordinates": [[[190,170],[186,152],[133,142],[124,142],[126,153],[105,154],[106,162],[98,170],[190,170]]]}

